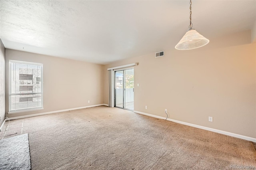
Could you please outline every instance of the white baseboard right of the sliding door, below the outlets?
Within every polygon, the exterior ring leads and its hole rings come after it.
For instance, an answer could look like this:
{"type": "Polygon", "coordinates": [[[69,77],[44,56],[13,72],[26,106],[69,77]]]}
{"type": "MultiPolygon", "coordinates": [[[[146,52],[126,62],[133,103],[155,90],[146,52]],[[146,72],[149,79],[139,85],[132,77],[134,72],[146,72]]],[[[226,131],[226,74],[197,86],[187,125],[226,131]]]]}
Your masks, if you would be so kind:
{"type": "MultiPolygon", "coordinates": [[[[160,116],[151,115],[151,114],[143,113],[143,112],[139,112],[139,111],[134,111],[134,113],[139,113],[139,114],[142,114],[142,115],[146,115],[146,116],[150,116],[150,117],[155,117],[155,118],[158,118],[158,119],[166,119],[166,117],[160,117],[160,116]]],[[[256,142],[256,138],[252,138],[252,137],[248,137],[248,136],[243,136],[243,135],[240,135],[240,134],[226,132],[226,131],[223,131],[223,130],[218,130],[218,129],[209,128],[209,127],[203,127],[203,126],[195,125],[195,124],[192,124],[192,123],[176,121],[174,119],[167,119],[167,121],[172,121],[172,122],[179,123],[179,124],[182,124],[182,125],[187,125],[187,126],[190,126],[190,127],[196,127],[196,128],[208,130],[208,131],[211,131],[211,132],[216,132],[216,133],[225,134],[225,135],[228,135],[228,136],[232,136],[232,137],[236,137],[236,138],[240,138],[240,139],[256,142]]]]}

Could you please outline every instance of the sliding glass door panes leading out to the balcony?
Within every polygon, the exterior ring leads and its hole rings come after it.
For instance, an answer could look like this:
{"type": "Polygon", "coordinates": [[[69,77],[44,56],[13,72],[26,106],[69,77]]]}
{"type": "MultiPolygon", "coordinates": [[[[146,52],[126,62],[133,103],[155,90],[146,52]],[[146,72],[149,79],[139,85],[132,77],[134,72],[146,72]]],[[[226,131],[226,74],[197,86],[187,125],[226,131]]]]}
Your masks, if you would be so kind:
{"type": "Polygon", "coordinates": [[[134,69],[115,71],[115,107],[134,110],[134,69]]]}

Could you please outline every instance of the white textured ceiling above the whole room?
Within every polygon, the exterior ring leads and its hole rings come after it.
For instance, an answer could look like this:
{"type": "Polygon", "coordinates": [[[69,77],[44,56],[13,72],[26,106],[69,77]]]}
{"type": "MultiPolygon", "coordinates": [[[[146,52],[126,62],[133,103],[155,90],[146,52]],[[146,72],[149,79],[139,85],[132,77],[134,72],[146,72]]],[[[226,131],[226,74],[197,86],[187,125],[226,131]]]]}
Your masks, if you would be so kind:
{"type": "MultiPolygon", "coordinates": [[[[100,64],[174,49],[189,26],[189,0],[0,3],[6,48],[100,64]]],[[[209,40],[255,21],[256,0],[192,0],[193,28],[209,40]]]]}

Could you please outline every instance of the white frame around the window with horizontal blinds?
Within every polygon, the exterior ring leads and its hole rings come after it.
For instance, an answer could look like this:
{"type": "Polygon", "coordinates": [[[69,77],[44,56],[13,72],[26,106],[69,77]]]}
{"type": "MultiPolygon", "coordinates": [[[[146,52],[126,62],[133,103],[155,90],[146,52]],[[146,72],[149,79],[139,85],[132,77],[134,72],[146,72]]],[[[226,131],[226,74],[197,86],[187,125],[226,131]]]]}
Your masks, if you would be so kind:
{"type": "MultiPolygon", "coordinates": [[[[16,71],[16,69],[15,69],[15,71],[16,71]]],[[[38,79],[38,77],[36,77],[36,80],[38,79]]],[[[42,109],[44,109],[44,100],[43,100],[43,84],[44,84],[44,81],[43,81],[43,64],[42,63],[32,63],[32,62],[27,62],[27,61],[17,61],[17,60],[9,60],[9,85],[8,85],[8,87],[9,87],[9,103],[8,103],[8,107],[9,107],[9,112],[8,112],[8,114],[12,114],[12,113],[20,113],[20,112],[28,112],[28,111],[36,111],[36,110],[42,110],[42,109]],[[12,78],[14,78],[14,77],[12,77],[12,63],[14,63],[14,64],[25,64],[25,65],[36,65],[36,66],[40,66],[41,67],[41,74],[40,74],[40,81],[41,81],[41,87],[40,87],[40,89],[41,89],[41,93],[38,93],[38,94],[41,94],[41,106],[39,106],[39,107],[34,107],[34,108],[23,108],[23,109],[13,109],[13,110],[11,110],[11,96],[12,95],[14,95],[15,93],[12,93],[12,78]]],[[[37,84],[37,81],[36,81],[36,84],[37,84]]],[[[24,84],[25,85],[25,84],[24,84]]],[[[33,84],[32,84],[33,85],[33,84]]],[[[33,94],[33,93],[31,93],[31,94],[33,94]]],[[[18,102],[18,101],[17,101],[18,102]]]]}

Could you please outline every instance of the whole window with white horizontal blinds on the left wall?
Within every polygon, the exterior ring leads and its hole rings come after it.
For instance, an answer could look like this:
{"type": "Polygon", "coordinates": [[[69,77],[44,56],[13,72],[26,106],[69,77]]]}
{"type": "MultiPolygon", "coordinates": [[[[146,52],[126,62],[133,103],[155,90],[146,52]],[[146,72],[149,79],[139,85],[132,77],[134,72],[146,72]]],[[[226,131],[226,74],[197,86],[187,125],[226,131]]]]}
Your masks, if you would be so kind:
{"type": "Polygon", "coordinates": [[[9,113],[43,109],[43,65],[9,61],[9,113]]]}

